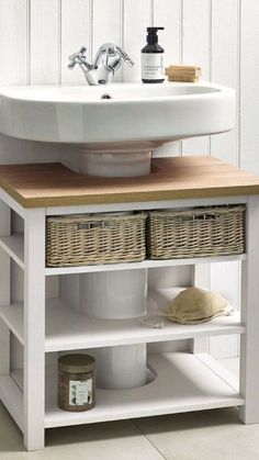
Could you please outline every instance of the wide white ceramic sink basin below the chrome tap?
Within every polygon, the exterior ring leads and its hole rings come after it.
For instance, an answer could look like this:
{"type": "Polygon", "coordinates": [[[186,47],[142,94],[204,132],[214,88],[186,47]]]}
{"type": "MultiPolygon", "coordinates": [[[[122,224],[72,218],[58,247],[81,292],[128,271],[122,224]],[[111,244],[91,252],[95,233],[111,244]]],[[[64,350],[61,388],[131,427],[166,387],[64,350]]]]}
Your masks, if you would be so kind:
{"type": "Polygon", "coordinates": [[[233,128],[235,113],[235,91],[205,82],[0,88],[1,133],[90,150],[222,133],[233,128]]]}

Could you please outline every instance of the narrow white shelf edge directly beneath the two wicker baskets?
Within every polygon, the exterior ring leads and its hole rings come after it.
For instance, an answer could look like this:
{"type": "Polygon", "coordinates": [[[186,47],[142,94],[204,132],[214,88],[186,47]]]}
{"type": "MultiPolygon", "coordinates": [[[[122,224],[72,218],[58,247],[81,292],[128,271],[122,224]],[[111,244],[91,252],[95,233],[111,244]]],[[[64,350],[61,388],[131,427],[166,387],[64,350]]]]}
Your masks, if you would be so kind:
{"type": "Polygon", "coordinates": [[[115,270],[140,270],[144,268],[159,268],[159,267],[176,267],[195,263],[216,263],[216,262],[233,262],[246,260],[246,255],[240,254],[236,256],[218,256],[218,257],[195,257],[187,259],[167,259],[167,260],[144,260],[143,262],[127,262],[127,263],[105,263],[105,265],[89,265],[81,267],[57,267],[46,268],[46,277],[54,274],[76,274],[76,273],[91,273],[100,271],[115,271],[115,270]]]}

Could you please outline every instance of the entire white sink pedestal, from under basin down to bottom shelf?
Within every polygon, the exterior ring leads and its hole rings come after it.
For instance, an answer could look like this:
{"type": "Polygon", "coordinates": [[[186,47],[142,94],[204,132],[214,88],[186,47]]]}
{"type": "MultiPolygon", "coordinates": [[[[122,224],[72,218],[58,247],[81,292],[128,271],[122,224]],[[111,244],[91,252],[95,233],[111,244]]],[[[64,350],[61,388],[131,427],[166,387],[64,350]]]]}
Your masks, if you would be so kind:
{"type": "MultiPolygon", "coordinates": [[[[135,177],[150,172],[150,153],[86,154],[80,172],[103,177],[135,177]],[[130,157],[132,155],[132,157],[130,157]]],[[[137,318],[147,311],[147,270],[122,270],[82,274],[80,307],[89,317],[114,323],[137,318]]],[[[98,348],[97,385],[131,389],[146,383],[146,344],[98,348]]]]}

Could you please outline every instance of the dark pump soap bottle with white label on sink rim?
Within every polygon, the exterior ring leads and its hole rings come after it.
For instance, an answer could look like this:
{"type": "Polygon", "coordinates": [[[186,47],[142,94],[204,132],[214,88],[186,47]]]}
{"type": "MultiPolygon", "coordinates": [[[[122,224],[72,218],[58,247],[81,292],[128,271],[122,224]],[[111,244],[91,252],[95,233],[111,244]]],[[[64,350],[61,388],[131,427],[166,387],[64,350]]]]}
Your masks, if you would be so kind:
{"type": "Polygon", "coordinates": [[[157,31],[165,27],[147,27],[147,44],[142,49],[142,81],[162,83],[165,81],[164,48],[158,45],[157,31]]]}

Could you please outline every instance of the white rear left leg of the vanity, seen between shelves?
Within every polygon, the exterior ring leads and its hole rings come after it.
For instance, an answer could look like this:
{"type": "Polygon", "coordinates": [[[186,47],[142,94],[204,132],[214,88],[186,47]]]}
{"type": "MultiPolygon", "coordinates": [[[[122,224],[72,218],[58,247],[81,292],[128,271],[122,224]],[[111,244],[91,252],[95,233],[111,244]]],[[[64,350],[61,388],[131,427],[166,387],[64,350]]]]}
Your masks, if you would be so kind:
{"type": "MultiPolygon", "coordinates": [[[[0,201],[0,235],[10,235],[11,210],[0,201]]],[[[0,305],[10,304],[10,257],[0,249],[0,305]]],[[[10,373],[10,329],[0,321],[0,374],[10,373]]]]}

